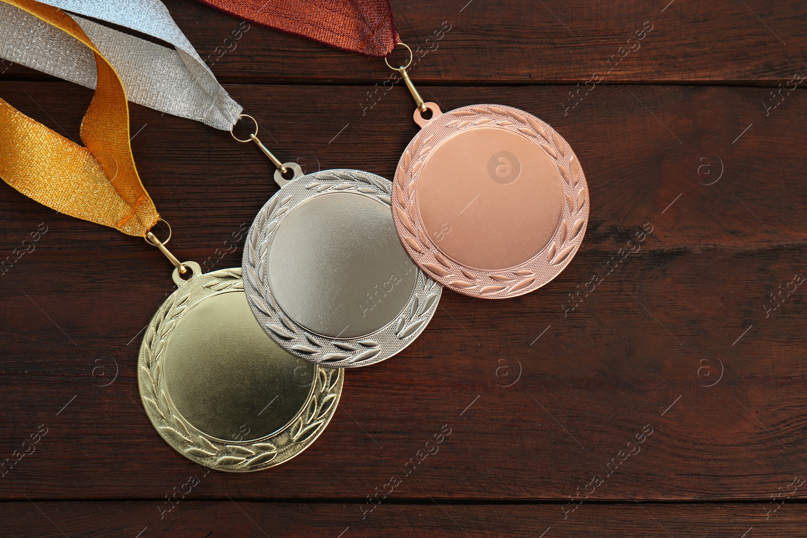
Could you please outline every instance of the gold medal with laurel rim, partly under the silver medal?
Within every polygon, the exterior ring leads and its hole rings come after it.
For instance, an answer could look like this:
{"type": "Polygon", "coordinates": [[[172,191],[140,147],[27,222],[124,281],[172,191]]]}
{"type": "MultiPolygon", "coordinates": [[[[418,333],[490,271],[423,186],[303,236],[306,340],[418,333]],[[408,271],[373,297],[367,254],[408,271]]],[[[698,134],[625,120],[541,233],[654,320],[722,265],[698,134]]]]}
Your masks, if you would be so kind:
{"type": "Polygon", "coordinates": [[[301,453],[328,425],[341,369],[312,365],[266,338],[249,309],[241,269],[183,281],[148,323],[138,380],[165,442],[201,465],[257,471],[301,453]]]}

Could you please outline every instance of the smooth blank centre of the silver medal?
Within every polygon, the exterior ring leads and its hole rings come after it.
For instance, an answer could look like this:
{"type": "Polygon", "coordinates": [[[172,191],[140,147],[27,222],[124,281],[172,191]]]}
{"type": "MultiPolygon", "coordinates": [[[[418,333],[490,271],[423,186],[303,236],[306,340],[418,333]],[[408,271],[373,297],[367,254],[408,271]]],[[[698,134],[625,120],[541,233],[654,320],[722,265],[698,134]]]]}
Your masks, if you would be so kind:
{"type": "Polygon", "coordinates": [[[391,323],[417,280],[390,207],[358,193],[322,194],[295,206],[274,231],[267,260],[284,313],[331,338],[357,338],[391,323]]]}

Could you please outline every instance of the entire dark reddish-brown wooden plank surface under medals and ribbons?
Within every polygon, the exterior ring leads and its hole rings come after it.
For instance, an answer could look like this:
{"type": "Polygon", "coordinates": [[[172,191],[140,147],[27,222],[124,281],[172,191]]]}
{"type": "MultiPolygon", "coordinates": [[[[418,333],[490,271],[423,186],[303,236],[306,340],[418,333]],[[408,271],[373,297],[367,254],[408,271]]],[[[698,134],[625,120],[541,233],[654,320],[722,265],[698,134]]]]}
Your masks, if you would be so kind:
{"type": "MultiPolygon", "coordinates": [[[[140,404],[165,259],[0,185],[0,456],[40,432],[0,478],[0,536],[805,535],[807,98],[788,87],[807,6],[466,2],[392,2],[412,77],[443,110],[516,106],[575,148],[592,210],[571,265],[520,298],[446,291],[414,344],[347,373],[311,448],[208,472],[140,404]]],[[[239,20],[166,5],[283,161],[393,177],[417,127],[383,61],[254,25],[232,48],[239,20]]],[[[3,69],[2,98],[78,140],[91,90],[3,69]]],[[[225,241],[277,190],[270,162],[143,106],[132,132],[174,252],[239,266],[225,241]]]]}

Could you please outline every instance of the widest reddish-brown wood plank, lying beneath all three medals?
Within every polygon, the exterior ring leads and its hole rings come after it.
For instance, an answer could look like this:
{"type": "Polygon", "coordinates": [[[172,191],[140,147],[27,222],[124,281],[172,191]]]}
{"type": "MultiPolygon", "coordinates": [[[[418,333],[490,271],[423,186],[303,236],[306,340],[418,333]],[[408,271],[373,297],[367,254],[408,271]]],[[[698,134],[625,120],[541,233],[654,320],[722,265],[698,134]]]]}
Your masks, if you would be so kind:
{"type": "MultiPolygon", "coordinates": [[[[412,106],[396,88],[366,116],[345,113],[344,103],[366,90],[228,86],[284,160],[391,177],[416,132],[412,106]]],[[[452,430],[439,453],[408,474],[423,487],[401,498],[564,500],[596,475],[604,482],[597,499],[767,501],[807,473],[805,296],[797,288],[776,311],[764,307],[776,304],[768,293],[807,270],[803,94],[766,117],[767,90],[610,86],[564,116],[547,103],[568,87],[429,90],[446,108],[520,106],[567,137],[592,189],[583,251],[521,298],[447,292],[406,352],[349,372],[340,411],[312,448],[265,473],[210,473],[198,498],[363,499],[406,473],[445,424],[452,430]],[[716,156],[725,175],[702,185],[716,176],[698,175],[700,159],[716,173],[716,156]],[[642,250],[615,264],[645,223],[653,231],[642,250]],[[609,261],[617,269],[608,271],[609,261]],[[570,310],[570,294],[594,274],[604,282],[575,295],[580,304],[570,310]],[[648,424],[641,451],[621,453],[648,424]]],[[[91,96],[32,82],[3,82],[0,95],[76,139],[91,96]]],[[[270,165],[228,133],[132,106],[132,131],[140,127],[138,167],[174,226],[174,249],[215,261],[215,249],[276,190],[270,165]]],[[[140,240],[0,190],[4,256],[40,223],[48,227],[36,250],[0,276],[0,454],[10,457],[40,424],[48,427],[36,453],[3,478],[3,498],[162,498],[199,472],[153,431],[137,394],[137,333],[173,287],[167,264],[140,240]],[[109,378],[99,372],[111,375],[115,363],[115,382],[99,386],[109,378]]],[[[220,258],[216,268],[240,263],[239,252],[220,258]]],[[[641,532],[657,532],[651,523],[641,532]]]]}

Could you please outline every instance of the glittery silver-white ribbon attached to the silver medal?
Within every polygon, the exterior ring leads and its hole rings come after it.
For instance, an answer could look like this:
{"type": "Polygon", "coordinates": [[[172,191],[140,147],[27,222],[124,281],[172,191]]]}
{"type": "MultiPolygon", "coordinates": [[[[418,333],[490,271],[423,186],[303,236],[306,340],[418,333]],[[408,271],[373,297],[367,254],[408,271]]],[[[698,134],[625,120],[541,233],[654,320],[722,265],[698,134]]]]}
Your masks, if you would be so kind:
{"type": "MultiPolygon", "coordinates": [[[[243,108],[215,80],[159,0],[44,0],[43,3],[128,27],[174,45],[175,50],[69,14],[115,67],[130,101],[217,129],[229,130],[236,123],[243,108]]],[[[95,87],[95,59],[90,49],[5,2],[0,2],[0,56],[88,88],[95,87]]]]}

